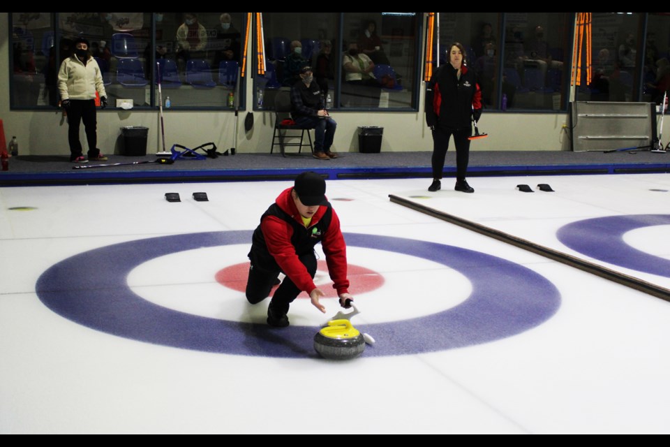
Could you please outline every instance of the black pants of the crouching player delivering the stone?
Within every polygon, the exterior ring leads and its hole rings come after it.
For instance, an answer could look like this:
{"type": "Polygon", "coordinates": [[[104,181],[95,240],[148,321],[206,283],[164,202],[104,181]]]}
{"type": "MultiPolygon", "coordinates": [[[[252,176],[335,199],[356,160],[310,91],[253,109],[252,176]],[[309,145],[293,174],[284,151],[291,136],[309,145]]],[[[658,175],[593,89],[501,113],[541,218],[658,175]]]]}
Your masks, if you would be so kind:
{"type": "MultiPolygon", "coordinates": [[[[309,274],[314,277],[316,274],[315,254],[312,252],[311,254],[299,256],[299,259],[307,268],[309,274]]],[[[249,278],[246,282],[246,299],[248,302],[256,305],[262,300],[265,300],[265,298],[270,295],[272,286],[274,286],[280,273],[281,270],[262,270],[252,263],[251,268],[249,268],[249,278]]],[[[290,304],[297,298],[300,292],[301,290],[297,288],[293,281],[291,281],[289,277],[285,277],[274,292],[270,306],[278,314],[287,314],[290,304]]]]}

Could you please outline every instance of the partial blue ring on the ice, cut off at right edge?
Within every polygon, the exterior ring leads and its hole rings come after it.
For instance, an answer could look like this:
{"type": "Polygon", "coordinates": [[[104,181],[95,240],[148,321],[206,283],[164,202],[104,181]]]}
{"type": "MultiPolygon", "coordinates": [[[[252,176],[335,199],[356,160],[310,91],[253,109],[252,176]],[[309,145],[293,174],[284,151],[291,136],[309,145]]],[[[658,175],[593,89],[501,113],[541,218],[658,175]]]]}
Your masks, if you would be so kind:
{"type": "Polygon", "coordinates": [[[639,272],[670,277],[670,261],[626,244],[623,235],[648,226],[669,225],[668,214],[597,217],[568,223],[556,237],[566,247],[591,258],[639,272]]]}

